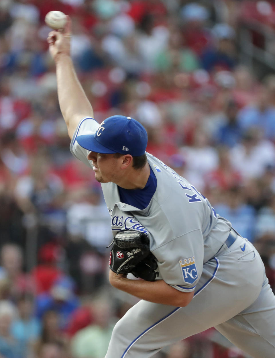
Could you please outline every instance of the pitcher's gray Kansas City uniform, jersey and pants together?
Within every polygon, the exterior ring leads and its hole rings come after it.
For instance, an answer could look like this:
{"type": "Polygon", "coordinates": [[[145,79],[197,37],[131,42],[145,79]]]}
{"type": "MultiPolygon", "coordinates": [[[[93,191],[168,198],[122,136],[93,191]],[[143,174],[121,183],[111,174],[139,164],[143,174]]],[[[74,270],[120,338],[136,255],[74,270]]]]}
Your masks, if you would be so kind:
{"type": "MultiPolygon", "coordinates": [[[[87,159],[89,151],[79,146],[76,137],[92,134],[98,126],[92,118],[83,118],[71,142],[74,156],[88,166],[92,166],[87,159]]],[[[113,234],[128,229],[145,232],[150,239],[150,250],[158,261],[159,278],[177,290],[195,290],[195,295],[186,308],[176,309],[141,300],[114,329],[106,358],[151,357],[164,345],[214,325],[253,357],[262,357],[262,349],[266,358],[274,357],[275,297],[256,249],[238,236],[229,250],[225,242],[231,223],[216,214],[208,200],[186,179],[154,156],[146,155],[157,187],[145,209],[122,203],[116,184],[102,184],[113,234]],[[255,310],[250,313],[254,315],[253,324],[241,321],[244,332],[234,334],[235,315],[252,304],[255,304],[255,310]],[[207,312],[202,313],[203,305],[207,312]],[[272,322],[266,322],[267,306],[274,318],[272,322]],[[135,329],[129,332],[133,316],[135,329]],[[255,326],[258,319],[265,321],[260,333],[255,326]],[[167,327],[168,322],[175,329],[167,327]],[[260,347],[256,353],[247,340],[251,330],[255,330],[255,341],[260,347]],[[267,330],[271,338],[267,337],[267,330]]],[[[248,312],[246,318],[249,318],[248,312]]]]}

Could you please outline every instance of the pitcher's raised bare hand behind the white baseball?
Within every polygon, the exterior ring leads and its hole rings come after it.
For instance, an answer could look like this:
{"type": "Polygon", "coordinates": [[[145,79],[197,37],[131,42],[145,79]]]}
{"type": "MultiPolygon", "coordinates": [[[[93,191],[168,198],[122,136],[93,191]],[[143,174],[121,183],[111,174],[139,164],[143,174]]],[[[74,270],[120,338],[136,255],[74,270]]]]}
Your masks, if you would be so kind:
{"type": "Polygon", "coordinates": [[[72,20],[67,16],[67,23],[63,30],[51,31],[48,35],[47,42],[51,56],[56,59],[59,54],[70,55],[70,38],[71,38],[72,20]]]}

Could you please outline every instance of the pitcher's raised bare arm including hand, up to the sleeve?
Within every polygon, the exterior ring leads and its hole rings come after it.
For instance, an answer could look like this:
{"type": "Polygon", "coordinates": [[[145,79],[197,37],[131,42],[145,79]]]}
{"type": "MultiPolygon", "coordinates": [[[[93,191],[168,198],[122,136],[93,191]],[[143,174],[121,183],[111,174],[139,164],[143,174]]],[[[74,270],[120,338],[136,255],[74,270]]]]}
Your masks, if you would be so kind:
{"type": "Polygon", "coordinates": [[[77,78],[70,57],[71,27],[72,21],[67,16],[67,24],[63,32],[51,31],[47,41],[56,65],[60,110],[67,124],[69,137],[72,139],[79,121],[85,116],[93,117],[93,108],[77,78]]]}

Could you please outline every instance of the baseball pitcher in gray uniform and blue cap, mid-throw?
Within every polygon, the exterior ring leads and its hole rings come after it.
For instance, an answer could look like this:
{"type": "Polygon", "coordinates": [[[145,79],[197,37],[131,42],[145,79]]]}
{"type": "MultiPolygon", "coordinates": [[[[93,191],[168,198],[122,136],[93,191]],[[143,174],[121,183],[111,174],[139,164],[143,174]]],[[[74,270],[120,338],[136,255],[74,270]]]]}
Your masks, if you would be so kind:
{"type": "Polygon", "coordinates": [[[152,357],[212,326],[252,357],[274,358],[275,296],[255,247],[146,153],[139,122],[93,119],[70,58],[69,18],[48,43],[70,150],[94,171],[111,216],[110,283],[141,299],[116,324],[105,358],[152,357]]]}

